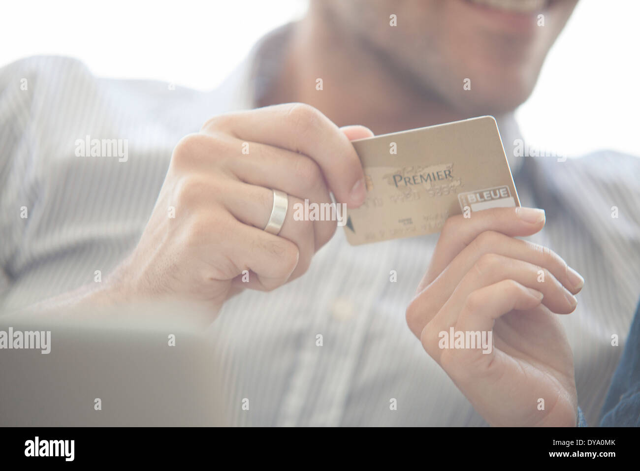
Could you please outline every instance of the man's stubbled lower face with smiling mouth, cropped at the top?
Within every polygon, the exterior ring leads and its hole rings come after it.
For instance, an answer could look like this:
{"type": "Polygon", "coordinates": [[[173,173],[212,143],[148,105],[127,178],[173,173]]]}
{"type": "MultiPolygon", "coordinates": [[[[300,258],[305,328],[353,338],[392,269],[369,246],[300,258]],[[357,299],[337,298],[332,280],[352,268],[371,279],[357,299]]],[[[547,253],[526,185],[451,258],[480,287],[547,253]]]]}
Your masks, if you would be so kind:
{"type": "Polygon", "coordinates": [[[319,0],[381,66],[468,115],[499,115],[531,94],[577,0],[319,0]],[[390,26],[390,15],[397,26],[390,26]],[[540,15],[543,15],[542,17],[540,15]],[[465,90],[469,79],[470,90],[465,90]]]}

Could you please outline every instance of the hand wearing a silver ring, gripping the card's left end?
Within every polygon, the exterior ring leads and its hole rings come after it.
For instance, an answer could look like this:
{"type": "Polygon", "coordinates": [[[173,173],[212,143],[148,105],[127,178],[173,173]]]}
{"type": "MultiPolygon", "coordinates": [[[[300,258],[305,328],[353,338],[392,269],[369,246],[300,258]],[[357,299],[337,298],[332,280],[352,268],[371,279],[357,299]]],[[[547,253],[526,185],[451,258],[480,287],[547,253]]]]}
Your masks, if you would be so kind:
{"type": "Polygon", "coordinates": [[[212,118],[173,150],[140,243],[110,286],[120,298],[168,294],[216,312],[243,288],[269,291],[298,278],[337,222],[294,220],[294,204],[330,203],[330,191],[348,207],[362,204],[364,173],[349,139],[368,136],[305,104],[212,118]],[[278,235],[263,230],[271,189],[289,195],[278,235]]]}

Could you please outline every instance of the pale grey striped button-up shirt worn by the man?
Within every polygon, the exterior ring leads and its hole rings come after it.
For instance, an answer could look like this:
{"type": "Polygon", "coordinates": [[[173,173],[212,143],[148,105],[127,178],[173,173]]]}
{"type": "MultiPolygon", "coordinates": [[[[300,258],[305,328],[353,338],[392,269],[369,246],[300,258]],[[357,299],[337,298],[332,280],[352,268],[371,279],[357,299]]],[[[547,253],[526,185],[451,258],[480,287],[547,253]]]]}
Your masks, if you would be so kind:
{"type": "MultiPolygon", "coordinates": [[[[286,40],[287,29],[268,36],[213,92],[101,79],[60,57],[0,69],[3,309],[109,273],[137,243],[177,141],[211,116],[255,107],[286,40]],[[127,160],[77,156],[87,136],[127,140],[127,160]]],[[[576,312],[561,319],[579,404],[596,423],[640,296],[640,159],[516,159],[517,127],[509,117],[499,127],[522,204],[547,211],[546,227],[528,239],[586,280],[576,312]]],[[[437,238],[353,247],[339,230],[298,280],[230,299],[209,331],[234,423],[485,425],[405,323],[437,238]]]]}

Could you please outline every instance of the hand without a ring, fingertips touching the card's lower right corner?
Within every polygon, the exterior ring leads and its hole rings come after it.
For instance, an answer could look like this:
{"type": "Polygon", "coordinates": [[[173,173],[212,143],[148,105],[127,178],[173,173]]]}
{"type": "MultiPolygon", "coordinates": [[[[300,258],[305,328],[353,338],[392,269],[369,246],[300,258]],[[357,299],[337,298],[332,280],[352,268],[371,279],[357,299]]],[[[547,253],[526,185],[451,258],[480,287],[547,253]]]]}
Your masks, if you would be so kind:
{"type": "Polygon", "coordinates": [[[577,420],[573,355],[553,313],[573,312],[584,280],[548,248],[514,238],[544,225],[544,212],[527,208],[449,218],[406,311],[424,349],[494,426],[577,420]],[[493,345],[454,348],[451,328],[493,345]]]}

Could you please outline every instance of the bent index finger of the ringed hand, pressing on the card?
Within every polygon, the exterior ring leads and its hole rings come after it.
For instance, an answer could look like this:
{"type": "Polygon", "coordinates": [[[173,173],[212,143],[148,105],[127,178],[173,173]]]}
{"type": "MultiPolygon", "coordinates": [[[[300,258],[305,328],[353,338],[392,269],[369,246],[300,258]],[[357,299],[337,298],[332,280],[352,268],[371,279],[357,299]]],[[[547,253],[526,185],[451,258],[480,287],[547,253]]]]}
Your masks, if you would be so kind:
{"type": "Polygon", "coordinates": [[[209,120],[203,131],[225,129],[245,141],[300,152],[316,161],[339,202],[358,207],[366,188],[362,164],[349,138],[312,106],[289,103],[228,113],[209,120]]]}

